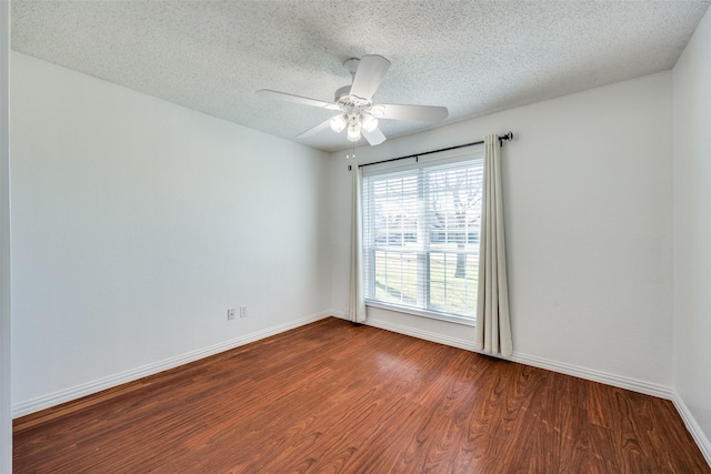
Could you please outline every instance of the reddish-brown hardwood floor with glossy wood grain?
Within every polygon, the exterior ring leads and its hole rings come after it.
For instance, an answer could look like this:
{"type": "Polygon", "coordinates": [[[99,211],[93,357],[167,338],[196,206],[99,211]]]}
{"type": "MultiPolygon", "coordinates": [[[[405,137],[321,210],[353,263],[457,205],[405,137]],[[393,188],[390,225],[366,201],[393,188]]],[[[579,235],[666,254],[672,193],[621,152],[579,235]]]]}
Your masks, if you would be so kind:
{"type": "Polygon", "coordinates": [[[327,319],[14,421],[17,473],[711,473],[671,402],[327,319]]]}

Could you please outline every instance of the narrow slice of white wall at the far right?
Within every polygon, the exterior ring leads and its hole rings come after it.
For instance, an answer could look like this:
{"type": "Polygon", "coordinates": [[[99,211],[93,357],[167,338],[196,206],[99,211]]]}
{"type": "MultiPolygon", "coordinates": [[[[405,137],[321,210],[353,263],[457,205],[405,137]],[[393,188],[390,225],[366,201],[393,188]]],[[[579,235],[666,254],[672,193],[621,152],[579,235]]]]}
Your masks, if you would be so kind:
{"type": "MultiPolygon", "coordinates": [[[[673,386],[711,464],[711,12],[673,71],[673,386]],[[693,423],[693,422],[692,422],[693,423]]],[[[682,411],[683,411],[682,406],[682,411]]]]}

